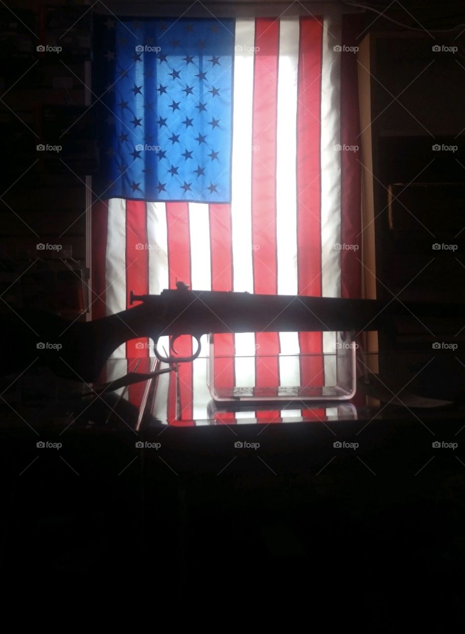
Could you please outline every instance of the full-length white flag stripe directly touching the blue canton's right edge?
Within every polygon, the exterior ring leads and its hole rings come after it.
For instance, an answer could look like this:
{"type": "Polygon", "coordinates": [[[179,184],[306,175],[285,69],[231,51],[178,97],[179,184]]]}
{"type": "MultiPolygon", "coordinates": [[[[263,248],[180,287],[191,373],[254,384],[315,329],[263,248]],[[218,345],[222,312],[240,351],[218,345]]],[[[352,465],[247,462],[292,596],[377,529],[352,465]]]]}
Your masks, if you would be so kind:
{"type": "MultiPolygon", "coordinates": [[[[236,20],[232,135],[232,271],[234,290],[253,293],[252,107],[255,20],[236,20]]],[[[255,335],[236,333],[236,385],[255,385],[255,335]],[[245,356],[245,358],[238,358],[245,356]]]]}

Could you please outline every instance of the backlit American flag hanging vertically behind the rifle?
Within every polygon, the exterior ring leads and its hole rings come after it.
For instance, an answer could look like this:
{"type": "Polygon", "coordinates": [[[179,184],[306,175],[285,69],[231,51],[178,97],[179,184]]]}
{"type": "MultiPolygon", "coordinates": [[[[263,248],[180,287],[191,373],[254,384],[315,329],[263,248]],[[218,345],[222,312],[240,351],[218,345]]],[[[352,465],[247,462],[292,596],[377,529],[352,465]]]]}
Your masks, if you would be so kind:
{"type": "MultiPolygon", "coordinates": [[[[129,307],[131,290],[159,294],[177,280],[360,297],[360,252],[340,248],[360,245],[358,150],[345,150],[358,133],[350,22],[104,18],[95,32],[105,158],[93,186],[92,318],[129,307]]],[[[332,333],[215,335],[215,384],[332,384],[331,364],[298,354],[334,344],[332,333]]],[[[176,347],[189,354],[191,338],[176,347]]],[[[127,342],[113,378],[134,358],[148,369],[151,354],[149,341],[127,342]]],[[[131,386],[135,404],[141,390],[131,386]]],[[[173,374],[158,391],[161,420],[179,418],[177,396],[182,420],[207,418],[205,358],[180,366],[179,394],[173,374]]]]}

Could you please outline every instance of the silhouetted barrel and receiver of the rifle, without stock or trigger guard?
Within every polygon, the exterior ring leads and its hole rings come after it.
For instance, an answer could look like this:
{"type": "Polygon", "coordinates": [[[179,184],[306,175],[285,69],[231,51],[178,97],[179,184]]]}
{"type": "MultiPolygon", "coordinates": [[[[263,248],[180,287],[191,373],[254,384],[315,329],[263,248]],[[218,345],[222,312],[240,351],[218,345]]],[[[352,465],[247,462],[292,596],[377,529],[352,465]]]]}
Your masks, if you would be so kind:
{"type": "MultiPolygon", "coordinates": [[[[165,290],[140,296],[162,300],[165,333],[303,332],[378,330],[398,317],[465,317],[465,304],[340,299],[305,295],[260,295],[238,292],[165,290]]],[[[157,306],[160,304],[156,302],[157,306]]]]}

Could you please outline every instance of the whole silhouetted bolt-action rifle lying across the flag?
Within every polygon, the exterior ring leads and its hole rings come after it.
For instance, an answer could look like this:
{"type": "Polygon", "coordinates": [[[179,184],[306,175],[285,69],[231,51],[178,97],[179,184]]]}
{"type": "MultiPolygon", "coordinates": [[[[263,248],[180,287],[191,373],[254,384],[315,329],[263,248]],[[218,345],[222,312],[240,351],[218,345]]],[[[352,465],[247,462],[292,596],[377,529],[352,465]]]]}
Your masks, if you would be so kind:
{"type": "MultiPolygon", "coordinates": [[[[175,290],[163,290],[160,295],[131,292],[130,304],[134,302],[139,304],[86,323],[69,323],[47,313],[15,313],[21,321],[10,315],[8,323],[3,320],[7,339],[0,348],[4,358],[13,358],[9,372],[15,371],[15,358],[18,361],[18,329],[22,341],[18,370],[23,370],[35,356],[57,375],[93,382],[118,346],[139,337],[153,339],[155,355],[172,365],[196,359],[201,351],[200,338],[207,333],[359,333],[392,328],[398,318],[414,316],[423,323],[447,315],[461,320],[465,317],[465,304],[198,291],[189,290],[182,282],[177,283],[175,290]],[[11,336],[12,330],[16,337],[11,336]],[[169,354],[164,356],[156,348],[163,335],[170,335],[169,354]],[[191,356],[176,354],[175,340],[181,335],[192,335],[197,341],[197,349],[191,356]],[[16,340],[15,346],[9,344],[12,339],[16,340]],[[60,345],[58,349],[53,347],[56,344],[60,345]]],[[[3,372],[6,373],[5,368],[3,372]]]]}

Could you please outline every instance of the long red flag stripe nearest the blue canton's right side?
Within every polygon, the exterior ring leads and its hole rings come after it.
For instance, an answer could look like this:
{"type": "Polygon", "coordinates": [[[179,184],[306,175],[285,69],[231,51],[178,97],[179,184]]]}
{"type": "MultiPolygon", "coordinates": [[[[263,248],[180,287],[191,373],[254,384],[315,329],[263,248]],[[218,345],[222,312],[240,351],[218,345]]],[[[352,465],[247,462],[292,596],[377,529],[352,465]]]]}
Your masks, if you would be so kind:
{"type": "MultiPolygon", "coordinates": [[[[255,20],[252,113],[252,264],[253,292],[276,295],[276,115],[279,22],[255,20]]],[[[255,335],[255,385],[279,385],[279,335],[255,335]]],[[[257,419],[278,411],[257,411],[257,419]]]]}

